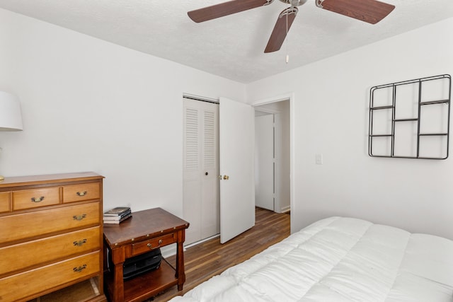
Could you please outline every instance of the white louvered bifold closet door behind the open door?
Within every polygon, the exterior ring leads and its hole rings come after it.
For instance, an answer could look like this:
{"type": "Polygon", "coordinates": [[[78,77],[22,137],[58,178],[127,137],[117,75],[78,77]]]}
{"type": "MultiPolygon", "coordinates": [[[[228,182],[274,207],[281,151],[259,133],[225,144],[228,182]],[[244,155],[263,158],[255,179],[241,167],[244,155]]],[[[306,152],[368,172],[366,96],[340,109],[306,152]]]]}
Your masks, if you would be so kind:
{"type": "Polygon", "coordinates": [[[219,222],[219,105],[184,98],[185,244],[214,236],[219,222]]]}

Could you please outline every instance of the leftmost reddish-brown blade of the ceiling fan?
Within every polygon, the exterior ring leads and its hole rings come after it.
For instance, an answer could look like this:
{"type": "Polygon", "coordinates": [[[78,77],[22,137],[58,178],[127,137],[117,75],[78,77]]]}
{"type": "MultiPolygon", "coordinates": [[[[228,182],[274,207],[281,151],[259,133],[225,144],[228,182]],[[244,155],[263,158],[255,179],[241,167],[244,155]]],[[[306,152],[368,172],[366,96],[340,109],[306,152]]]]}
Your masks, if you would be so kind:
{"type": "Polygon", "coordinates": [[[187,14],[193,21],[200,23],[228,16],[233,13],[239,13],[240,11],[247,11],[248,9],[265,6],[271,4],[272,2],[273,0],[233,0],[196,9],[195,11],[189,11],[187,14]]]}

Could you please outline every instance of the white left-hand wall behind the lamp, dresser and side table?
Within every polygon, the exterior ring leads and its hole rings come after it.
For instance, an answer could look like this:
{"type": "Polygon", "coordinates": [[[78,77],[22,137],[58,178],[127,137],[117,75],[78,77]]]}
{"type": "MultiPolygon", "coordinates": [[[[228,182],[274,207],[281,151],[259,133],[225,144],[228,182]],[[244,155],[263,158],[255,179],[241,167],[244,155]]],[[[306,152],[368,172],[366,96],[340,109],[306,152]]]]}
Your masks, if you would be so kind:
{"type": "Polygon", "coordinates": [[[0,133],[0,172],[94,171],[104,209],[183,212],[183,93],[245,99],[245,85],[0,9],[0,91],[23,132],[0,133]]]}

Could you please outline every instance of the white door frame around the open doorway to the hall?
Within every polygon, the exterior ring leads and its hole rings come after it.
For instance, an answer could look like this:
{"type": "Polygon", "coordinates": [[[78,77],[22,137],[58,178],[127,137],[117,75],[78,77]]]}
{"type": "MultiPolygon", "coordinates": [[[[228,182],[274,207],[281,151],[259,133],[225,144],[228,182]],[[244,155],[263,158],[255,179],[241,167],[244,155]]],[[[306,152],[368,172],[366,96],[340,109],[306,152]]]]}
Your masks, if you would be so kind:
{"type": "MultiPolygon", "coordinates": [[[[282,95],[276,95],[270,98],[264,98],[260,100],[255,100],[251,102],[253,108],[258,107],[260,105],[266,105],[270,103],[277,103],[283,100],[289,100],[289,209],[291,212],[294,213],[294,100],[295,95],[294,92],[285,93],[282,95]]],[[[294,224],[292,221],[292,216],[290,218],[291,230],[292,225],[294,224]]]]}

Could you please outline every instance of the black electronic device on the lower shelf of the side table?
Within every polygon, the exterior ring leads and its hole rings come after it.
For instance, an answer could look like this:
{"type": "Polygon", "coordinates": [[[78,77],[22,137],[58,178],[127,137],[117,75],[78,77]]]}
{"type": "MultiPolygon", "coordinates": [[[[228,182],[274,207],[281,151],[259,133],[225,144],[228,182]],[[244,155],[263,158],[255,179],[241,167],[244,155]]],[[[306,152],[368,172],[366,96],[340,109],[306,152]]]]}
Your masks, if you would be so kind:
{"type": "MultiPolygon", "coordinates": [[[[159,269],[161,266],[162,254],[161,249],[156,248],[142,255],[127,258],[122,265],[122,279],[129,280],[137,277],[144,272],[150,272],[154,269],[159,269]]],[[[112,262],[110,250],[108,250],[108,270],[115,267],[112,262]]]]}

